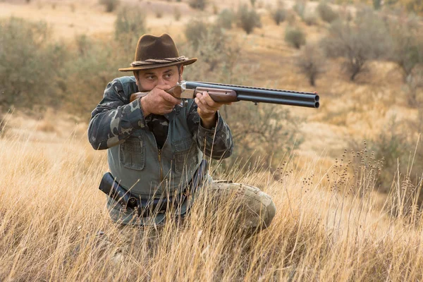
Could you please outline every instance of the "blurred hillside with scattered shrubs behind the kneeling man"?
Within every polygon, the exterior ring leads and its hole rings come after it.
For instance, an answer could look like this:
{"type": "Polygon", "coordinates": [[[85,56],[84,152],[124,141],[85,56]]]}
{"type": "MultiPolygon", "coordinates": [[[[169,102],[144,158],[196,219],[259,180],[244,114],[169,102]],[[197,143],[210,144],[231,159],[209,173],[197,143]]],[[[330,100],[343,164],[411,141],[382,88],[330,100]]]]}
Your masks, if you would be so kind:
{"type": "Polygon", "coordinates": [[[398,164],[416,187],[423,169],[418,4],[0,1],[0,112],[37,119],[52,109],[87,124],[107,82],[125,75],[117,69],[132,61],[137,38],[168,32],[180,54],[199,58],[186,80],[320,94],[319,109],[243,102],[223,109],[238,144],[231,164],[251,156],[274,170],[292,154],[330,161],[366,140],[384,159],[382,191],[391,189],[398,164]]]}

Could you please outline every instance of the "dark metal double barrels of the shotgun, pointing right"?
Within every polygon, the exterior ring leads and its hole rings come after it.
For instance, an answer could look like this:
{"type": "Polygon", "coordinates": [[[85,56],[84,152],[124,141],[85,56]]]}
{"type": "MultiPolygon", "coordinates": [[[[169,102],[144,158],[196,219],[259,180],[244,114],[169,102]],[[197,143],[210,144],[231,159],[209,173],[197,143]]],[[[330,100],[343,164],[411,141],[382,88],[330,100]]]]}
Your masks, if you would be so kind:
{"type": "Polygon", "coordinates": [[[188,89],[209,87],[215,89],[233,90],[237,94],[238,101],[286,104],[290,106],[306,106],[310,108],[319,108],[320,106],[319,95],[315,92],[278,90],[198,81],[187,81],[185,83],[185,87],[188,89]]]}

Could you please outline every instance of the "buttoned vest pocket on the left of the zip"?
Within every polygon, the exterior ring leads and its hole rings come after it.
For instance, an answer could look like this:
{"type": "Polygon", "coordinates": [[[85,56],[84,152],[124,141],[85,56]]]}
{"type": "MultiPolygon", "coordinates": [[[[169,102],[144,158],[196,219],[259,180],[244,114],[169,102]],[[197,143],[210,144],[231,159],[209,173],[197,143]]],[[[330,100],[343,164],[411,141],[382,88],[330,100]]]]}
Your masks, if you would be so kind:
{"type": "Polygon", "coordinates": [[[121,164],[137,171],[144,168],[145,145],[140,134],[131,135],[121,144],[121,164]]]}

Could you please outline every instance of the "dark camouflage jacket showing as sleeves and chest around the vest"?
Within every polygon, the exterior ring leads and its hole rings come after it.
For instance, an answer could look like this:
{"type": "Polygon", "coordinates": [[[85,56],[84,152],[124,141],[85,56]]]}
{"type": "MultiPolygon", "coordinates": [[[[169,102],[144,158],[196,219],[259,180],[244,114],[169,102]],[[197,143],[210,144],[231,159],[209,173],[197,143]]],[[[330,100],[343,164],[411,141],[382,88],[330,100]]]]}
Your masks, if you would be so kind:
{"type": "MultiPolygon", "coordinates": [[[[161,134],[167,132],[166,119],[161,116],[142,114],[140,101],[130,101],[130,94],[138,92],[134,77],[116,78],[110,82],[104,91],[104,97],[92,111],[88,128],[88,139],[94,149],[109,149],[121,144],[133,133],[133,130],[149,127],[149,130],[161,134]],[[125,91],[121,80],[131,80],[129,90],[125,91]],[[161,122],[164,121],[164,122],[161,122]]],[[[173,109],[173,112],[176,109],[173,109]]],[[[172,114],[172,113],[171,113],[172,114]]],[[[205,154],[214,159],[224,159],[233,152],[231,130],[218,112],[216,128],[206,129],[200,125],[197,104],[193,102],[189,109],[188,124],[192,138],[198,147],[205,149],[205,154]],[[216,132],[216,135],[215,135],[216,132]],[[213,152],[212,152],[213,149],[213,152]]],[[[162,134],[163,136],[163,134],[162,134]]],[[[166,135],[165,135],[166,136],[166,135]]],[[[163,138],[163,137],[161,137],[163,138]]],[[[160,140],[160,137],[157,139],[160,140]]]]}

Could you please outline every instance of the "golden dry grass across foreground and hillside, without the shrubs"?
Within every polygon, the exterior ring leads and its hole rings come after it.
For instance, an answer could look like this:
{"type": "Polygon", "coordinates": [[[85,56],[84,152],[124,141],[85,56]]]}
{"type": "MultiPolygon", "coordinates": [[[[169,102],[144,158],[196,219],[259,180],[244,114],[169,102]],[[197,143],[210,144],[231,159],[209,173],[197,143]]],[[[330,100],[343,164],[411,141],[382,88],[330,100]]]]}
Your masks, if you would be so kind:
{"type": "MultiPolygon", "coordinates": [[[[145,4],[149,30],[178,39],[197,16],[186,1],[122,2],[145,4]],[[181,20],[174,19],[174,8],[181,20]],[[157,9],[166,13],[157,18],[157,9]]],[[[383,168],[364,149],[350,150],[353,139],[375,137],[393,117],[404,123],[417,118],[418,109],[398,95],[398,68],[372,62],[372,71],[350,82],[331,64],[310,87],[293,68],[298,51],[283,41],[287,23],[277,26],[266,13],[276,1],[259,2],[264,27],[250,35],[231,31],[243,43],[242,63],[257,66],[259,86],[321,95],[318,110],[291,109],[304,119],[303,142],[286,164],[272,172],[213,175],[271,195],[277,209],[271,226],[245,237],[225,209],[211,217],[195,207],[182,225],[161,228],[157,240],[149,240],[152,229],[121,231],[97,189],[107,171],[106,152],[87,142],[90,113],[75,118],[18,111],[4,116],[0,134],[0,281],[422,281],[419,188],[403,190],[399,176],[382,197],[375,178],[383,168]]],[[[236,8],[240,1],[213,3],[236,8]]],[[[284,3],[288,8],[295,1],[284,3]]],[[[54,37],[64,40],[78,34],[111,38],[115,20],[96,0],[0,1],[0,18],[10,16],[46,20],[54,37]]],[[[305,28],[312,40],[325,30],[305,28]]]]}

